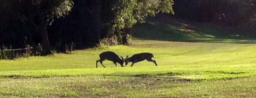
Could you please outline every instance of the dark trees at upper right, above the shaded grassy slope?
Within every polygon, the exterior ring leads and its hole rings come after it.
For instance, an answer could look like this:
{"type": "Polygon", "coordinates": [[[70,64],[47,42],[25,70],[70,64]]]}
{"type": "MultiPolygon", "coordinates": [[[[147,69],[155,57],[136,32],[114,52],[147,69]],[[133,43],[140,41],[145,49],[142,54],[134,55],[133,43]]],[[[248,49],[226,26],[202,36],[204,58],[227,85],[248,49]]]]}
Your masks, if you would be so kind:
{"type": "Polygon", "coordinates": [[[255,27],[256,0],[174,0],[175,17],[227,27],[255,27]]]}

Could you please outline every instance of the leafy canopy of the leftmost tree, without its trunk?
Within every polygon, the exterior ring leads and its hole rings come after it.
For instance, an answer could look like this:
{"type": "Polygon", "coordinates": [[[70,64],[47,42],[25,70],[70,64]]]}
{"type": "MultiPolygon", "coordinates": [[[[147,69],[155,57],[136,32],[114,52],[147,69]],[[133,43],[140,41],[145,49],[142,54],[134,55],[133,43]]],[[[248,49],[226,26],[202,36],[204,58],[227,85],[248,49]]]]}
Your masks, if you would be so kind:
{"type": "Polygon", "coordinates": [[[10,21],[30,21],[33,18],[46,18],[51,21],[55,17],[67,15],[73,7],[72,0],[0,0],[0,12],[10,16],[10,21]]]}

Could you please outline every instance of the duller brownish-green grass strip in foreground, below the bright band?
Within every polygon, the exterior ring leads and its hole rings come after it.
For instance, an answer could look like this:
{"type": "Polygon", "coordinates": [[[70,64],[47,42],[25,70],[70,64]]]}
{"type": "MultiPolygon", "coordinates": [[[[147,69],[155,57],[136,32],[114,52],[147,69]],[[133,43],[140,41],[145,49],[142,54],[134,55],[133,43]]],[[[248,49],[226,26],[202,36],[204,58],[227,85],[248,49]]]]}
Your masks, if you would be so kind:
{"type": "Polygon", "coordinates": [[[2,97],[256,97],[255,77],[179,82],[165,78],[68,76],[0,79],[2,97]]]}

